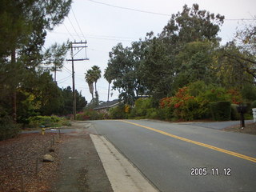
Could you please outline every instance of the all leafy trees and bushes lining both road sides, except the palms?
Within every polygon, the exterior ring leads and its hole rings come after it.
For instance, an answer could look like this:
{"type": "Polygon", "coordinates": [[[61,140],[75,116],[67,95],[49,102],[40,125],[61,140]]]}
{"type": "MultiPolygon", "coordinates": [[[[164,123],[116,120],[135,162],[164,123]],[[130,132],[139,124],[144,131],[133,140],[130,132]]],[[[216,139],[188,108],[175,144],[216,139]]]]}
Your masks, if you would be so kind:
{"type": "MultiPolygon", "coordinates": [[[[44,48],[48,31],[61,24],[70,0],[2,1],[0,8],[0,139],[21,127],[68,125],[73,107],[70,86],[59,88],[52,72],[62,69],[70,42],[44,48]],[[62,10],[62,11],[57,11],[62,10]],[[15,77],[15,78],[14,78],[15,77]],[[58,116],[58,117],[57,117],[58,116]]],[[[75,90],[78,120],[153,118],[168,121],[246,118],[256,107],[256,27],[243,26],[222,45],[218,37],[225,16],[183,6],[159,34],[149,32],[130,46],[110,51],[104,75],[98,66],[85,74],[90,103],[75,90]],[[97,82],[106,78],[119,91],[121,106],[107,114],[98,106],[97,82]],[[143,96],[143,97],[142,97],[143,96]],[[87,105],[87,106],[86,106],[87,105]],[[86,108],[85,108],[86,107],[86,108]]],[[[109,100],[109,96],[108,96],[109,100]]]]}

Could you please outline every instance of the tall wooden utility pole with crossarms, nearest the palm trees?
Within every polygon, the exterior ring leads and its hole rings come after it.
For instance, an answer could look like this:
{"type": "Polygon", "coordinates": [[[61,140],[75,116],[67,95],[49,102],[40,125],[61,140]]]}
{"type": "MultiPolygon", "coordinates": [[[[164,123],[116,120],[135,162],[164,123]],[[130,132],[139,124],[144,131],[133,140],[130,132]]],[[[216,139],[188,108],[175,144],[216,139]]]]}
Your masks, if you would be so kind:
{"type": "Polygon", "coordinates": [[[76,94],[75,94],[75,85],[74,85],[74,62],[75,61],[85,61],[89,60],[89,58],[74,58],[76,54],[78,54],[82,49],[86,49],[87,42],[71,42],[71,59],[66,59],[66,61],[72,62],[72,84],[73,84],[73,118],[75,120],[75,116],[77,113],[77,102],[76,102],[76,94]],[[74,54],[74,50],[78,49],[78,51],[74,54]]]}

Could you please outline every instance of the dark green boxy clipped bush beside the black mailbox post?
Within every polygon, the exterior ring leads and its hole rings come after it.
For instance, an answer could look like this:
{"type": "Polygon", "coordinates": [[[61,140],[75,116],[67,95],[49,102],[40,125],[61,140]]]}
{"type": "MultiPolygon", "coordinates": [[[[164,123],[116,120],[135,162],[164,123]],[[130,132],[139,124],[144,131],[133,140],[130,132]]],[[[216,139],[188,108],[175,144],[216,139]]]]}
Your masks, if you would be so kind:
{"type": "Polygon", "coordinates": [[[211,102],[210,111],[214,121],[230,120],[231,104],[230,102],[211,102]]]}

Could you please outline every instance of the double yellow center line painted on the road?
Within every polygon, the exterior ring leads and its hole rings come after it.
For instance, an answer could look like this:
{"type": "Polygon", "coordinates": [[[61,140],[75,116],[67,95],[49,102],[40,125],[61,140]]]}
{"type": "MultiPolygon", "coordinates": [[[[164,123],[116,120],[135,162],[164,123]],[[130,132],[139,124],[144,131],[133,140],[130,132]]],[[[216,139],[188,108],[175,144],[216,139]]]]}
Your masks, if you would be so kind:
{"type": "Polygon", "coordinates": [[[145,129],[147,129],[147,130],[153,130],[154,132],[157,132],[157,133],[159,133],[159,134],[164,134],[164,135],[169,136],[169,137],[171,137],[171,138],[177,138],[177,139],[179,139],[179,140],[181,140],[181,141],[184,141],[184,142],[190,142],[190,143],[193,143],[193,144],[198,145],[198,146],[204,146],[204,147],[209,148],[209,149],[211,149],[211,150],[217,150],[217,151],[222,152],[222,153],[225,153],[225,154],[230,154],[230,155],[233,155],[233,156],[238,157],[238,158],[243,158],[243,159],[246,159],[246,160],[248,160],[248,161],[250,161],[250,162],[256,162],[256,158],[251,158],[251,157],[246,156],[246,155],[244,155],[244,154],[238,154],[238,153],[235,153],[235,152],[230,151],[230,150],[223,150],[222,148],[218,148],[218,147],[216,147],[216,146],[210,146],[210,145],[208,145],[208,144],[206,144],[206,143],[202,143],[202,142],[195,142],[195,141],[190,140],[190,139],[188,139],[188,138],[182,138],[182,137],[179,137],[179,136],[174,135],[174,134],[166,133],[165,131],[162,131],[162,130],[154,129],[154,128],[149,127],[149,126],[142,126],[142,125],[140,125],[140,124],[138,124],[138,123],[127,122],[127,121],[124,121],[124,120],[119,120],[119,121],[120,121],[120,122],[130,123],[130,124],[132,124],[132,125],[134,125],[134,126],[140,126],[140,127],[143,127],[143,128],[145,128],[145,129]]]}

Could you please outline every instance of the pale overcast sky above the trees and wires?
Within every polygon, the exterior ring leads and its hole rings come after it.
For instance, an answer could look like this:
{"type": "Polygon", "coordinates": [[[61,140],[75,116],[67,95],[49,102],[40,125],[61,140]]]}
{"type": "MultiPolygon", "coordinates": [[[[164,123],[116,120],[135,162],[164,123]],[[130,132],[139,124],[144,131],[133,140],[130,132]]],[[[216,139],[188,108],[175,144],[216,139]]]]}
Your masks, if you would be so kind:
{"type": "MultiPolygon", "coordinates": [[[[161,33],[170,19],[169,15],[182,11],[185,4],[191,7],[194,3],[198,3],[200,10],[225,16],[219,33],[222,44],[234,38],[237,27],[241,29],[245,23],[255,23],[242,20],[256,16],[255,0],[73,0],[72,9],[64,23],[48,32],[45,47],[54,42],[66,42],[67,39],[72,42],[86,39],[87,51],[82,50],[75,58],[85,58],[87,54],[90,60],[74,62],[75,88],[82,91],[82,95],[90,102],[89,87],[84,78],[86,70],[97,65],[103,76],[113,46],[118,42],[130,46],[131,42],[145,38],[150,31],[161,33]]],[[[66,58],[70,59],[70,53],[66,58]]],[[[62,71],[57,73],[57,81],[60,87],[72,86],[71,62],[65,62],[62,71]]],[[[99,99],[106,101],[108,83],[101,78],[97,85],[99,99]]],[[[118,98],[118,91],[111,92],[113,96],[110,100],[118,98]]]]}

